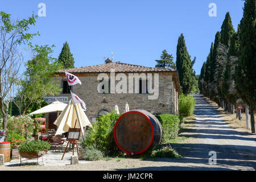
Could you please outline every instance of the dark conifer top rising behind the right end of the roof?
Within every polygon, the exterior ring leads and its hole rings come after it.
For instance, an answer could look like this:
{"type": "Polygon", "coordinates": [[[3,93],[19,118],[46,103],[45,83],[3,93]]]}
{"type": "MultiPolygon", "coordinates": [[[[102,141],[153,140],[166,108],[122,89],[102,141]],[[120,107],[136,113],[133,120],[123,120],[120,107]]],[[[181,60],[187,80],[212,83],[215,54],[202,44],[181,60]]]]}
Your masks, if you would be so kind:
{"type": "Polygon", "coordinates": [[[163,50],[161,59],[155,60],[156,61],[156,68],[172,68],[175,69],[175,63],[174,63],[174,57],[172,55],[169,55],[166,51],[166,49],[163,50]]]}

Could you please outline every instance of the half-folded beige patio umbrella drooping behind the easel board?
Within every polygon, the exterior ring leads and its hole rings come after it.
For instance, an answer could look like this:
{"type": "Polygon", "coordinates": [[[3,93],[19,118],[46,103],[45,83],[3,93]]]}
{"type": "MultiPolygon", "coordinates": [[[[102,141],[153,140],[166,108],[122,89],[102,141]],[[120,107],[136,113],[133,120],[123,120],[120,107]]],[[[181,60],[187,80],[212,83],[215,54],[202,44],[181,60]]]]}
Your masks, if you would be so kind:
{"type": "Polygon", "coordinates": [[[82,134],[84,134],[84,130],[82,127],[86,127],[86,126],[92,127],[92,124],[90,123],[88,117],[84,113],[84,109],[82,109],[80,104],[75,105],[73,100],[71,99],[68,102],[68,105],[62,111],[62,113],[53,123],[54,125],[58,126],[58,129],[55,135],[60,135],[68,132],[69,127],[71,128],[75,127],[75,123],[76,123],[76,128],[80,128],[81,126],[82,134]]]}

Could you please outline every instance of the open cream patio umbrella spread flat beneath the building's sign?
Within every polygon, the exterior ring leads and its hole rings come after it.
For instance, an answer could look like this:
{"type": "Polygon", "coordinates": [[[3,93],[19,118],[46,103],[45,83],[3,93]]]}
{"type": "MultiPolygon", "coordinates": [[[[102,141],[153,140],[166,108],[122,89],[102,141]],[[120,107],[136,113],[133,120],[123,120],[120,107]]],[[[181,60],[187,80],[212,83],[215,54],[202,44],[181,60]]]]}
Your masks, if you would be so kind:
{"type": "Polygon", "coordinates": [[[42,107],[41,109],[38,109],[30,114],[43,114],[43,113],[52,113],[57,111],[57,117],[59,117],[59,111],[63,111],[67,104],[64,104],[63,102],[52,102],[52,104],[49,104],[47,106],[42,107]]]}

